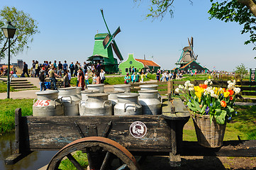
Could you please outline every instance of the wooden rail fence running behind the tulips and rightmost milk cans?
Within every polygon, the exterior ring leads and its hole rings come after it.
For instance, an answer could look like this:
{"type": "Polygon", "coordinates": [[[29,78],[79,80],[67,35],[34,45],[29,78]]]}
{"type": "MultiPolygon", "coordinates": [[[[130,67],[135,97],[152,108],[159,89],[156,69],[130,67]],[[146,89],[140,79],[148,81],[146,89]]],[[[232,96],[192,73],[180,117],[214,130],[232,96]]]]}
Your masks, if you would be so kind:
{"type": "MultiPolygon", "coordinates": [[[[157,84],[158,85],[158,91],[160,95],[170,95],[174,96],[177,95],[177,92],[175,89],[179,87],[180,84],[184,85],[186,81],[163,81],[163,82],[155,82],[150,84],[157,84]]],[[[199,84],[204,84],[204,80],[194,80],[190,81],[191,84],[194,84],[194,86],[199,86],[199,84]]],[[[211,86],[215,87],[222,87],[227,88],[228,83],[227,81],[212,81],[213,84],[211,86]]],[[[140,84],[131,84],[131,90],[130,91],[138,91],[140,90],[140,85],[146,84],[146,83],[140,83],[140,84]]],[[[256,103],[256,97],[255,98],[243,98],[242,96],[256,96],[256,82],[252,81],[237,81],[235,86],[239,87],[241,89],[240,96],[238,96],[237,101],[241,102],[252,102],[256,103]]]]}

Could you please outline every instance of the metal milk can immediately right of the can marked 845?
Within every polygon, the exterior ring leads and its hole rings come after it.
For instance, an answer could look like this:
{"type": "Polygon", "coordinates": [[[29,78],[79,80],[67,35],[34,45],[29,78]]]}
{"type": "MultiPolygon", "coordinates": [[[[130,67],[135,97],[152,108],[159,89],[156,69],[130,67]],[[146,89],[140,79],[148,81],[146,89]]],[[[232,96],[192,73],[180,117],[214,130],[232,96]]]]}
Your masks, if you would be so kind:
{"type": "Polygon", "coordinates": [[[79,101],[77,97],[77,87],[67,87],[58,89],[59,97],[64,103],[65,115],[79,115],[79,101]]]}

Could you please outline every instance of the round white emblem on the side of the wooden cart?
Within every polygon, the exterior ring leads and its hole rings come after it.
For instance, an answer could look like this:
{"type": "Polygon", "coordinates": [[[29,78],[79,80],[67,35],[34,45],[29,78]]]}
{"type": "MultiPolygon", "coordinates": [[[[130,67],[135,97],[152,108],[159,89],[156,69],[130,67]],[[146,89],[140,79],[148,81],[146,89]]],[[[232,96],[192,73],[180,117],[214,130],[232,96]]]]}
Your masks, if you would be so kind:
{"type": "Polygon", "coordinates": [[[133,137],[144,137],[146,135],[146,132],[146,125],[140,121],[136,121],[130,125],[130,134],[133,135],[133,137]]]}

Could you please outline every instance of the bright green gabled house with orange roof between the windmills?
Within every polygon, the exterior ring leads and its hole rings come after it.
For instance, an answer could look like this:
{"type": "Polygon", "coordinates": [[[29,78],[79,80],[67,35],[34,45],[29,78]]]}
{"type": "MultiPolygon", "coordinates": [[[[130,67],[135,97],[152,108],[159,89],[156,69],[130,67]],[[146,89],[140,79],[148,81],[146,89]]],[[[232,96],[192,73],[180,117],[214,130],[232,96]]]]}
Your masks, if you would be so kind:
{"type": "Polygon", "coordinates": [[[154,69],[155,72],[157,69],[160,69],[160,65],[151,60],[135,59],[133,54],[129,54],[128,59],[119,64],[119,71],[122,75],[125,75],[129,72],[129,68],[133,67],[135,68],[135,72],[138,72],[139,69],[154,69]]]}

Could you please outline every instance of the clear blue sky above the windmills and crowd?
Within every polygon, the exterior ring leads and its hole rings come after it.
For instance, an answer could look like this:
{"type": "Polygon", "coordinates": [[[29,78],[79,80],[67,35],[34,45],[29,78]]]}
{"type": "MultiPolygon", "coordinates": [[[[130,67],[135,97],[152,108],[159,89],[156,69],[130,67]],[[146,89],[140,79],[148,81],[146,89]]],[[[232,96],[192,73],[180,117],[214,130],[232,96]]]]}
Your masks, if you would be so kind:
{"type": "Polygon", "coordinates": [[[210,1],[195,0],[191,5],[189,0],[176,0],[173,5],[173,18],[167,13],[162,21],[153,22],[145,20],[149,8],[145,0],[136,4],[133,0],[1,0],[0,8],[15,6],[29,13],[40,30],[29,43],[30,50],[11,57],[11,62],[21,59],[31,66],[32,60],[86,61],[92,55],[97,30],[107,33],[100,13],[103,8],[111,33],[121,27],[115,40],[124,60],[128,53],[138,59],[153,56],[162,69],[173,69],[182,48],[188,46],[187,38],[193,36],[198,62],[208,69],[233,71],[241,63],[256,67],[254,46],[243,44],[249,35],[241,35],[243,27],[237,23],[208,20],[210,1]]]}

